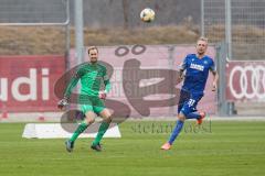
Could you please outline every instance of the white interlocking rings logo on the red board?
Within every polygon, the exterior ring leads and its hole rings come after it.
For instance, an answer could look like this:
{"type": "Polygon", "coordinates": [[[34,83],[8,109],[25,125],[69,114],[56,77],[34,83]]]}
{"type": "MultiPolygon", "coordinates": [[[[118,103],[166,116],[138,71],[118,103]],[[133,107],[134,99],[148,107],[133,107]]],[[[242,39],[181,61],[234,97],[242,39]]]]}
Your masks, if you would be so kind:
{"type": "Polygon", "coordinates": [[[236,99],[265,99],[265,66],[234,66],[229,75],[229,87],[236,99]]]}

